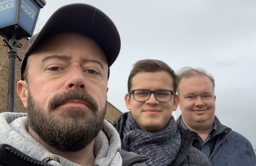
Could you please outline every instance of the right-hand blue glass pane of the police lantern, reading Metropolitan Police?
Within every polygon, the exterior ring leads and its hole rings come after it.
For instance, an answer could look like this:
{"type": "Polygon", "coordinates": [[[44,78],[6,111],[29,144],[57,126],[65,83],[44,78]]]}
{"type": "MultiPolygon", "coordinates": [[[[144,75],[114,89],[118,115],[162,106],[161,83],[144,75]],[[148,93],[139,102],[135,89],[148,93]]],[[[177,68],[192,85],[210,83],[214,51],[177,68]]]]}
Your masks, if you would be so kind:
{"type": "Polygon", "coordinates": [[[34,24],[37,18],[39,7],[30,0],[20,0],[19,2],[19,21],[29,33],[33,32],[34,24]]]}

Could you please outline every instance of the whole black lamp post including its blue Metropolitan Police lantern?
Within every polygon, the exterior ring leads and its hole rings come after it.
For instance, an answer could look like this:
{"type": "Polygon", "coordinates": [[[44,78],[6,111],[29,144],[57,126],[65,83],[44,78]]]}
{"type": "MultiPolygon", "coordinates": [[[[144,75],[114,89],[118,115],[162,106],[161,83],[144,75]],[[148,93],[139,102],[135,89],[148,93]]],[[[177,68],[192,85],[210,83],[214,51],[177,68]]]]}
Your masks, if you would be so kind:
{"type": "Polygon", "coordinates": [[[14,112],[15,67],[17,48],[22,45],[18,40],[31,37],[39,10],[45,0],[0,0],[0,35],[4,46],[9,47],[8,112],[14,112]]]}

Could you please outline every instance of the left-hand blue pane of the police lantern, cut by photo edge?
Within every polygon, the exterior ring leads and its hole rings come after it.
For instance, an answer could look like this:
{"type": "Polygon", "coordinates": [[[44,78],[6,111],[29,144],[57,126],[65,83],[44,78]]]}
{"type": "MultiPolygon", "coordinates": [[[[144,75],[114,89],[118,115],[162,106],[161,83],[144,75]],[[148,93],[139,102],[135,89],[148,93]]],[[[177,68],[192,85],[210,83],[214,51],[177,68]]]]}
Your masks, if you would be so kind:
{"type": "Polygon", "coordinates": [[[17,0],[0,0],[0,27],[16,22],[17,0]]]}

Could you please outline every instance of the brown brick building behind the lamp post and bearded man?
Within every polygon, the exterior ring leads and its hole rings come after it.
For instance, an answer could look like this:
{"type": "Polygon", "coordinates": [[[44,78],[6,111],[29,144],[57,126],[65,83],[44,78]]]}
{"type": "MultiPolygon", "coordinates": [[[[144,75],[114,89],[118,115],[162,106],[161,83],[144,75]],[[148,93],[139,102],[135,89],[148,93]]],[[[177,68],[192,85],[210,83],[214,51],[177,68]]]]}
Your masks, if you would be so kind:
{"type": "MultiPolygon", "coordinates": [[[[0,36],[1,37],[1,36],[0,36]]],[[[8,47],[5,47],[2,42],[2,37],[0,38],[0,113],[7,112],[7,93],[8,93],[8,47]]],[[[23,57],[25,49],[27,47],[27,39],[22,39],[19,43],[22,44],[21,48],[18,48],[18,55],[23,57]]],[[[20,76],[21,62],[16,59],[16,74],[15,74],[15,85],[21,80],[20,76]]],[[[25,113],[26,109],[23,107],[19,95],[17,94],[17,86],[15,86],[15,108],[14,111],[17,113],[25,113]]],[[[107,113],[105,119],[109,122],[114,121],[122,113],[116,109],[112,104],[107,104],[107,113]]]]}

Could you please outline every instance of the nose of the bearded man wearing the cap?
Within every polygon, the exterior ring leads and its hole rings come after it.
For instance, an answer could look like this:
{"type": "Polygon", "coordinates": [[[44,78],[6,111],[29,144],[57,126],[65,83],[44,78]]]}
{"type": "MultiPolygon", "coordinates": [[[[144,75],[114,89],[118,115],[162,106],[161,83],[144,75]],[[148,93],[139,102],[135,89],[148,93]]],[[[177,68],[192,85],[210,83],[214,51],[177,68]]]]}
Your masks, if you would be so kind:
{"type": "Polygon", "coordinates": [[[67,82],[66,89],[86,89],[85,75],[79,65],[73,65],[65,75],[67,82]]]}

